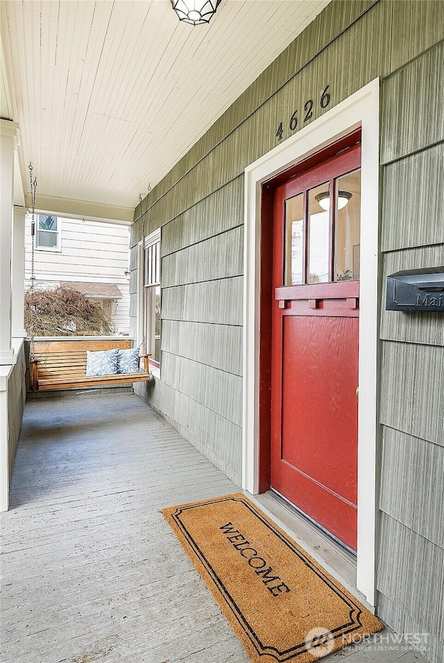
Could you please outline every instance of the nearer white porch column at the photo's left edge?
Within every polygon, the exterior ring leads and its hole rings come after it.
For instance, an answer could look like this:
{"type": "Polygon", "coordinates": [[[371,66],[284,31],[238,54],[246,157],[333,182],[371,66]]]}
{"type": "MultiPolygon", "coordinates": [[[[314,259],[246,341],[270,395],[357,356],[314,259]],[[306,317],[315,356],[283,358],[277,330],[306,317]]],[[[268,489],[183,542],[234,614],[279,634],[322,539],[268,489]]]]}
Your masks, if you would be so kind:
{"type": "Polygon", "coordinates": [[[11,246],[17,128],[15,122],[0,120],[0,366],[15,363],[11,345],[11,246]]]}

